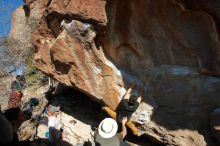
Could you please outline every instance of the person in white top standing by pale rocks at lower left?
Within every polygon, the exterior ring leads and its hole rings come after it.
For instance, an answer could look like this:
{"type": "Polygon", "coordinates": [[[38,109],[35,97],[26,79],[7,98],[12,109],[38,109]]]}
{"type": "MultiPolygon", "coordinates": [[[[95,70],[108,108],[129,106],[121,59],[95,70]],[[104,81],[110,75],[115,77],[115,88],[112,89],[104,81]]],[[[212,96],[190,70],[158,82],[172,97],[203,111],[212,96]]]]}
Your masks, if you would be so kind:
{"type": "Polygon", "coordinates": [[[52,146],[56,146],[60,143],[62,139],[62,134],[59,129],[60,119],[58,115],[60,114],[60,108],[49,106],[48,108],[48,128],[49,128],[49,143],[52,146]]]}

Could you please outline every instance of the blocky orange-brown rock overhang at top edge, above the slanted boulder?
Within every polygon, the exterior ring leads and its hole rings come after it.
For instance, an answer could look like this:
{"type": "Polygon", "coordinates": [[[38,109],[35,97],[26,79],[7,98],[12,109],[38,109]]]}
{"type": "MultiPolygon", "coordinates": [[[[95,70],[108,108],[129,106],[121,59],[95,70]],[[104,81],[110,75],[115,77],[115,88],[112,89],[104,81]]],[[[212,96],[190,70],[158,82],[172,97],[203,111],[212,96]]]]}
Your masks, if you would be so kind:
{"type": "Polygon", "coordinates": [[[105,4],[106,0],[52,0],[49,10],[70,18],[106,24],[105,4]]]}

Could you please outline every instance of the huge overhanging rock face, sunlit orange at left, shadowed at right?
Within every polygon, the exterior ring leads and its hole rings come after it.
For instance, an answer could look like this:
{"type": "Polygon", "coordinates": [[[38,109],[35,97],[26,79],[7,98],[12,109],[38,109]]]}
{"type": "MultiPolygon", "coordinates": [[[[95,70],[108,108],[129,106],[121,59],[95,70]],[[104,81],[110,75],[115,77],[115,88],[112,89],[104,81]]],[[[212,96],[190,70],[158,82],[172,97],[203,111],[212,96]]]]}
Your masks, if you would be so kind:
{"type": "Polygon", "coordinates": [[[198,70],[220,69],[218,1],[41,0],[27,7],[41,12],[33,44],[42,72],[114,110],[135,80],[145,91],[132,117],[140,134],[165,145],[217,145],[209,114],[220,104],[220,79],[198,70]]]}

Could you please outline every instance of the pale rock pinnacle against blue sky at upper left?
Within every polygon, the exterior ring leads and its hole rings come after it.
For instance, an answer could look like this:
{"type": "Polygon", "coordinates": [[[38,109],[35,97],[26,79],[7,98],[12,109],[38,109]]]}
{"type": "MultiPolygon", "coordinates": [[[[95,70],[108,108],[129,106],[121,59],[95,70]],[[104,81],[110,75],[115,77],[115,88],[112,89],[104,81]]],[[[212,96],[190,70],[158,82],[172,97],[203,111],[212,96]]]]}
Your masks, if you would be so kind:
{"type": "MultiPolygon", "coordinates": [[[[20,6],[11,18],[10,38],[19,40],[25,47],[32,47],[31,38],[39,19],[42,17],[48,0],[30,0],[27,5],[20,6]],[[30,9],[32,11],[30,11],[30,9]]],[[[19,47],[19,46],[18,46],[19,47]]]]}

